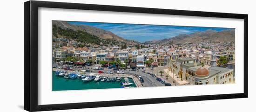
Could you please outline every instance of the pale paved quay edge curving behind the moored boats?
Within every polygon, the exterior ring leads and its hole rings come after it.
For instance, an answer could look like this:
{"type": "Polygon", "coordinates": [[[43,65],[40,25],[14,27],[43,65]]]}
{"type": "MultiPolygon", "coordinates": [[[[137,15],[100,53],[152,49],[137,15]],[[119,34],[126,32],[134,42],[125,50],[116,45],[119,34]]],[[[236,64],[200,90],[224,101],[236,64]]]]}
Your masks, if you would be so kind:
{"type": "MultiPolygon", "coordinates": [[[[57,71],[56,68],[53,68],[52,70],[53,71],[57,71]]],[[[67,71],[67,70],[65,70],[65,71],[67,71]]],[[[78,71],[67,71],[67,72],[70,72],[70,73],[74,72],[74,73],[77,73],[77,74],[86,74],[85,72],[78,72],[78,71]]],[[[94,73],[94,72],[89,72],[89,73],[94,73]]],[[[143,85],[141,84],[141,81],[137,77],[135,77],[134,75],[130,75],[130,74],[116,74],[116,73],[114,73],[114,74],[96,73],[94,76],[96,76],[96,75],[100,75],[102,77],[121,77],[121,78],[127,77],[127,78],[131,78],[131,79],[133,79],[134,84],[135,84],[136,87],[143,87],[143,85]]]]}

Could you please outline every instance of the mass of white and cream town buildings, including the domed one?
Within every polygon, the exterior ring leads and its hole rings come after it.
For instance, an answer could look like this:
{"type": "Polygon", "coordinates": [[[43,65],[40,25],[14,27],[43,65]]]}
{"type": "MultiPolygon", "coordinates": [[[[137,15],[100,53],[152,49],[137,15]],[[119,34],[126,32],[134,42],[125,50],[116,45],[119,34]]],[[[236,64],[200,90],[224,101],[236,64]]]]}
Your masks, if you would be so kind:
{"type": "Polygon", "coordinates": [[[118,59],[131,68],[147,66],[167,66],[168,70],[190,84],[226,84],[235,81],[235,47],[233,43],[197,43],[189,45],[146,45],[137,49],[128,46],[74,47],[62,46],[53,49],[53,57],[61,60],[67,57],[91,59],[93,64],[101,61],[111,62],[118,59]],[[232,45],[232,46],[230,46],[232,45]],[[211,46],[205,48],[202,46],[211,46]],[[229,59],[227,67],[218,67],[217,62],[223,56],[229,59]],[[153,59],[151,65],[146,65],[153,59]],[[203,64],[203,66],[202,66],[203,64]]]}

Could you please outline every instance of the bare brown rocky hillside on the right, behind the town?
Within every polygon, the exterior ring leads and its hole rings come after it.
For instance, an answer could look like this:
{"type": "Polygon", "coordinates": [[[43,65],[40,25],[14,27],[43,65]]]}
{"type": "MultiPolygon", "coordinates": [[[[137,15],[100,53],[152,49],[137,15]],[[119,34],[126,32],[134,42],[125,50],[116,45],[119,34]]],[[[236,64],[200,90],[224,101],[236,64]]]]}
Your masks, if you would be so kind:
{"type": "Polygon", "coordinates": [[[184,43],[196,43],[201,41],[216,41],[216,42],[228,42],[235,41],[235,30],[223,30],[217,32],[215,30],[206,30],[204,32],[196,32],[191,34],[180,34],[173,38],[147,41],[144,44],[164,44],[173,41],[174,44],[184,44],[184,43]]]}

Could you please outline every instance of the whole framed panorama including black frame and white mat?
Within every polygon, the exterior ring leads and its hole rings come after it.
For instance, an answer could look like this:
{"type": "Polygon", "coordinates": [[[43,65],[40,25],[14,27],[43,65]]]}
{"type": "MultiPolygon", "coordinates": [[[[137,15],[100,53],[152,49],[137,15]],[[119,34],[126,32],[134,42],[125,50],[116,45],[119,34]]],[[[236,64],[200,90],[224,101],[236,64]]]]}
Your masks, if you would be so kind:
{"type": "Polygon", "coordinates": [[[248,15],[25,2],[25,110],[248,97],[248,15]]]}

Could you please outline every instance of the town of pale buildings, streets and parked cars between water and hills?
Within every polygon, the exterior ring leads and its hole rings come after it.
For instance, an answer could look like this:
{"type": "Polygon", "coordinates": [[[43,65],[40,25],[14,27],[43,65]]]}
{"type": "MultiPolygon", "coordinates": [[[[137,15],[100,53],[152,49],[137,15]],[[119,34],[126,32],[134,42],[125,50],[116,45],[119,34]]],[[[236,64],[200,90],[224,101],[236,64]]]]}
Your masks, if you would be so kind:
{"type": "Polygon", "coordinates": [[[137,87],[235,83],[233,42],[170,42],[125,48],[79,44],[76,40],[54,39],[54,70],[96,73],[102,78],[127,74],[136,79],[137,87]]]}

